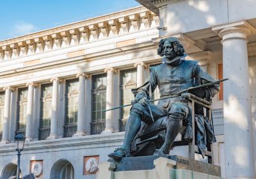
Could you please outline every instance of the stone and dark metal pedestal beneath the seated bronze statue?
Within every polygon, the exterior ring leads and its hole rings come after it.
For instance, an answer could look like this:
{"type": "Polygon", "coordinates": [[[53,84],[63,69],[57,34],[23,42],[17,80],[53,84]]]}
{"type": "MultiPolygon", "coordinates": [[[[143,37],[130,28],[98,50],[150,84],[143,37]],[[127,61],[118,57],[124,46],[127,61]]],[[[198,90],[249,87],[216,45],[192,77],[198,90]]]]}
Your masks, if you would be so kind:
{"type": "Polygon", "coordinates": [[[99,164],[97,179],[221,178],[220,166],[178,155],[127,157],[99,164]]]}

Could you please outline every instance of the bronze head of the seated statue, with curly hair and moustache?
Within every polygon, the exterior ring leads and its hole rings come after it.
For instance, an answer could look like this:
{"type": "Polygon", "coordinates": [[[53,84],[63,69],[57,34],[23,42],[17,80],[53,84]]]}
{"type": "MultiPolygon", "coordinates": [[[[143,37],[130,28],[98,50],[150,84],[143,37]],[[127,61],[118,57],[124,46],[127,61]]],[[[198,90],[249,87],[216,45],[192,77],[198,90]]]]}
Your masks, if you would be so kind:
{"type": "Polygon", "coordinates": [[[164,62],[173,63],[173,61],[180,59],[178,57],[184,56],[184,47],[175,37],[164,38],[159,42],[157,54],[163,57],[164,62]]]}

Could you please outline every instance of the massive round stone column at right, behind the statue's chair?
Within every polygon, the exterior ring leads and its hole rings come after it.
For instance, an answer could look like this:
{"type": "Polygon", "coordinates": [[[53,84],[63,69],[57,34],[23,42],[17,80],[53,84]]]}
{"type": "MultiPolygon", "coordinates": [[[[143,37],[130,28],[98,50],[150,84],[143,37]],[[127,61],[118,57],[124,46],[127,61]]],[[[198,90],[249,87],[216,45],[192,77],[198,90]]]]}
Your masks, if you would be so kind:
{"type": "Polygon", "coordinates": [[[246,21],[214,27],[223,45],[225,178],[255,178],[246,21]]]}

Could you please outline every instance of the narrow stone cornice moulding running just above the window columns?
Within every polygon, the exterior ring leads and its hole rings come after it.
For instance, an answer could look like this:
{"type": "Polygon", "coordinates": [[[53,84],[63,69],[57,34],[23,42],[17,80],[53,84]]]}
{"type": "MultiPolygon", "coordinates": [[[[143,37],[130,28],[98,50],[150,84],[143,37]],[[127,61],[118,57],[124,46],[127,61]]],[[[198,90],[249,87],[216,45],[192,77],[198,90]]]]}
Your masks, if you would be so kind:
{"type": "Polygon", "coordinates": [[[32,72],[38,72],[41,70],[48,70],[51,68],[58,68],[60,66],[74,65],[74,64],[84,63],[84,62],[88,62],[88,61],[96,61],[96,60],[104,59],[104,58],[108,59],[108,58],[111,58],[114,56],[121,56],[124,54],[146,51],[148,49],[157,49],[157,45],[155,45],[152,42],[146,42],[146,43],[140,43],[140,44],[131,45],[131,46],[127,46],[127,47],[121,47],[121,48],[113,49],[113,50],[109,50],[109,51],[103,51],[103,52],[97,52],[97,53],[87,54],[87,55],[83,55],[83,56],[77,56],[74,58],[60,59],[58,61],[53,61],[50,63],[44,63],[44,64],[40,64],[40,65],[19,68],[19,69],[16,69],[15,71],[10,70],[7,72],[1,72],[0,78],[28,74],[28,73],[32,73],[32,72]]]}

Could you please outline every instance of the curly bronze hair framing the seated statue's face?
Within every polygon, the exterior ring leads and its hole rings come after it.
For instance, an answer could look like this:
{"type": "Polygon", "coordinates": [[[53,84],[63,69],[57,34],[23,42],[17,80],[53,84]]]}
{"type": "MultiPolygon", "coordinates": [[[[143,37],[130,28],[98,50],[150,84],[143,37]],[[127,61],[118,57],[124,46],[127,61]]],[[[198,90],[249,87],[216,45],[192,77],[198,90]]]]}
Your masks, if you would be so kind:
{"type": "Polygon", "coordinates": [[[164,42],[165,41],[169,41],[170,43],[172,43],[174,51],[178,54],[178,56],[183,56],[184,55],[184,47],[180,44],[179,40],[175,37],[168,37],[168,38],[164,38],[162,40],[160,40],[159,42],[159,46],[157,49],[157,54],[159,54],[159,56],[164,56],[163,53],[163,46],[164,46],[164,42]]]}

